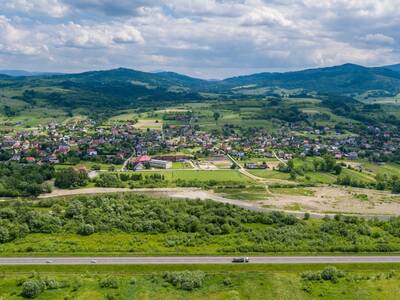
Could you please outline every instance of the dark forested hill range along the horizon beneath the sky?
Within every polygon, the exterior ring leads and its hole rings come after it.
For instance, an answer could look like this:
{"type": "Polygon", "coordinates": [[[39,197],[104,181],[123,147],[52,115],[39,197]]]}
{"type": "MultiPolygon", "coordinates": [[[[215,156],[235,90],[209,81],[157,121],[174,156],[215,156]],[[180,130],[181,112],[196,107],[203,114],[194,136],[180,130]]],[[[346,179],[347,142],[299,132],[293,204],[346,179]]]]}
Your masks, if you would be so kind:
{"type": "Polygon", "coordinates": [[[0,75],[0,101],[98,111],[164,102],[201,101],[206,97],[265,97],[274,88],[337,95],[369,91],[396,95],[400,92],[400,72],[396,70],[398,66],[367,68],[345,64],[297,72],[259,73],[219,81],[173,72],[149,73],[125,68],[80,74],[0,75]]]}

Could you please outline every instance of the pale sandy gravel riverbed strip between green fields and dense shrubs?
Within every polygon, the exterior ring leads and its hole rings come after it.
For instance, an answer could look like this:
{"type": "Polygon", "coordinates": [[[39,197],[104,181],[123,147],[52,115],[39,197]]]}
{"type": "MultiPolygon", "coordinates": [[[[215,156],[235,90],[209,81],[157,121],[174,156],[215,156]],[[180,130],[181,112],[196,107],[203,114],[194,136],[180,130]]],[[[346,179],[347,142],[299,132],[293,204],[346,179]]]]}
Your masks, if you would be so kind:
{"type": "Polygon", "coordinates": [[[39,198],[72,196],[78,194],[101,194],[115,192],[146,193],[159,197],[176,199],[210,199],[230,203],[250,209],[278,209],[283,211],[310,212],[315,214],[343,213],[360,215],[400,215],[400,195],[387,191],[375,191],[338,186],[307,188],[314,192],[311,196],[272,194],[260,201],[227,199],[223,195],[199,188],[84,188],[77,190],[54,190],[39,198]]]}

